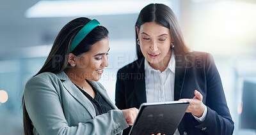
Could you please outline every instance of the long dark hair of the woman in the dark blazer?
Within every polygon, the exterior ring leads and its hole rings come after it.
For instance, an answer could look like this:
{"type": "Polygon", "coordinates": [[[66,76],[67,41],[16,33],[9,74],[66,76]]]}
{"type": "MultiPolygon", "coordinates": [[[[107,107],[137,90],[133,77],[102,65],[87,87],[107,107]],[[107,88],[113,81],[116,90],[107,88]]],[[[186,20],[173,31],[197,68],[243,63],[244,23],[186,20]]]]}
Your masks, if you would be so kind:
{"type": "MultiPolygon", "coordinates": [[[[175,54],[188,53],[189,48],[185,45],[182,32],[177,18],[175,17],[171,8],[165,4],[148,4],[145,6],[138,16],[135,25],[136,42],[138,34],[136,32],[136,26],[140,31],[140,26],[146,22],[156,22],[163,27],[170,29],[171,37],[175,47],[173,48],[175,54]]],[[[136,43],[136,53],[138,59],[144,57],[141,53],[140,46],[136,43]]]]}

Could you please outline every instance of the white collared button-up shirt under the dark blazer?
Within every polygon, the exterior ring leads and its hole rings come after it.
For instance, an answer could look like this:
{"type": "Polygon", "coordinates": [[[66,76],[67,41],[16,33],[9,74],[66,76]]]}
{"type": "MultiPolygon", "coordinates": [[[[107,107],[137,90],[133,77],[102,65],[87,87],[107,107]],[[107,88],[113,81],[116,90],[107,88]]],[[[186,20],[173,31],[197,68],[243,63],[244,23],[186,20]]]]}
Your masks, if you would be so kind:
{"type": "MultiPolygon", "coordinates": [[[[174,101],[174,80],[175,80],[175,55],[172,51],[171,59],[167,68],[161,71],[152,68],[147,59],[144,61],[145,65],[145,84],[147,103],[174,101]]],[[[207,114],[207,107],[205,106],[202,117],[195,117],[198,122],[203,122],[207,114]]],[[[176,129],[175,135],[180,135],[176,129]]]]}

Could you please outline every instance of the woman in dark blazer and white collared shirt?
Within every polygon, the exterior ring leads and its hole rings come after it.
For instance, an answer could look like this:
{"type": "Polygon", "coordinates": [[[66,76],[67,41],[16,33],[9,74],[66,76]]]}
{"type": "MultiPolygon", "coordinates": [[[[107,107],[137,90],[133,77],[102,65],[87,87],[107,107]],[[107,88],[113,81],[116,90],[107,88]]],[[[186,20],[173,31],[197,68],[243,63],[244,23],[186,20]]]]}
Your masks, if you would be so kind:
{"type": "Polygon", "coordinates": [[[173,11],[149,4],[135,28],[138,60],[117,73],[116,106],[186,100],[190,105],[175,135],[232,134],[234,122],[214,60],[209,53],[189,52],[173,11]]]}

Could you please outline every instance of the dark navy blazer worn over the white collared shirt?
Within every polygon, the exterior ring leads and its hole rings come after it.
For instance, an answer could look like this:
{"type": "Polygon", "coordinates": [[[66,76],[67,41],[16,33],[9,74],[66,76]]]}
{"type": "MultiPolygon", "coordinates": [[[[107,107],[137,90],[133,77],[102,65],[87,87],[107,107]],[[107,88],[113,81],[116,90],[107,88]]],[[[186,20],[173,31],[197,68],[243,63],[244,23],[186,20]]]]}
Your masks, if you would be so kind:
{"type": "MultiPolygon", "coordinates": [[[[180,134],[232,134],[234,122],[230,116],[218,70],[212,55],[191,52],[175,55],[174,100],[193,98],[194,90],[203,96],[207,106],[204,122],[186,113],[178,127],[180,134]]],[[[147,102],[145,92],[144,58],[119,69],[116,80],[116,106],[120,109],[139,108],[147,102]]],[[[129,131],[124,131],[129,132],[129,131]]]]}

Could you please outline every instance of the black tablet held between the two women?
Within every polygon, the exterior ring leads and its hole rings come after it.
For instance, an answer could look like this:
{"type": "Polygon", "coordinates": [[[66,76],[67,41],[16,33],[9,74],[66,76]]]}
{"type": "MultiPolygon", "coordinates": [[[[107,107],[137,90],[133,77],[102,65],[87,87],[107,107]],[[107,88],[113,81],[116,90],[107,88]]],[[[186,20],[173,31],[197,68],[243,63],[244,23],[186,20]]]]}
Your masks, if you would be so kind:
{"type": "Polygon", "coordinates": [[[143,103],[129,134],[174,134],[188,106],[187,101],[143,103]]]}

